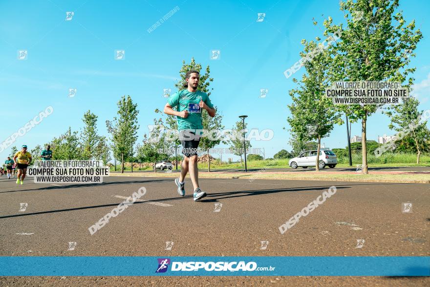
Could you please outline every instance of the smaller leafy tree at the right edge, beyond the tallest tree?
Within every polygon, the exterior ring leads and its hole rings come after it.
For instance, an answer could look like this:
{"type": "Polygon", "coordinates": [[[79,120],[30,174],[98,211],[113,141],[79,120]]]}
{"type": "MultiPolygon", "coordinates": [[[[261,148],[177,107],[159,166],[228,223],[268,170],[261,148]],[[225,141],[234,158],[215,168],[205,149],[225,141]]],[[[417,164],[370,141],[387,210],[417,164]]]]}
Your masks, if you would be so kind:
{"type": "Polygon", "coordinates": [[[413,150],[417,155],[416,163],[420,163],[421,152],[429,145],[429,129],[426,127],[427,121],[420,121],[423,111],[418,110],[418,99],[414,97],[405,98],[401,105],[392,106],[386,113],[390,117],[388,128],[396,132],[409,131],[408,137],[399,140],[404,149],[413,150]],[[410,148],[410,140],[415,146],[410,148]]]}

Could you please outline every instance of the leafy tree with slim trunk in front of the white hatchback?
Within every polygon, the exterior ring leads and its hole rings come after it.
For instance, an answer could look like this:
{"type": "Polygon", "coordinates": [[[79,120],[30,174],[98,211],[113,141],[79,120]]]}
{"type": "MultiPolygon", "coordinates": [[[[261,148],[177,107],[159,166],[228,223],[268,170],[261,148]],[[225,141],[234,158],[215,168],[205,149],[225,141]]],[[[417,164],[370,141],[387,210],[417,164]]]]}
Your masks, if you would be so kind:
{"type": "MultiPolygon", "coordinates": [[[[309,57],[320,49],[320,53],[305,61],[303,66],[306,73],[302,76],[301,82],[293,79],[299,88],[291,89],[289,94],[293,100],[288,108],[291,117],[287,121],[291,126],[291,131],[304,137],[304,139],[316,139],[318,141],[317,154],[320,153],[321,138],[328,136],[333,130],[334,124],[341,124],[340,114],[335,109],[332,100],[325,96],[325,89],[329,86],[328,72],[331,65],[329,49],[322,49],[316,42],[302,40],[304,51],[301,57],[309,57]],[[297,96],[296,96],[297,95],[297,96]]],[[[319,171],[319,157],[316,157],[315,169],[319,171]]]]}

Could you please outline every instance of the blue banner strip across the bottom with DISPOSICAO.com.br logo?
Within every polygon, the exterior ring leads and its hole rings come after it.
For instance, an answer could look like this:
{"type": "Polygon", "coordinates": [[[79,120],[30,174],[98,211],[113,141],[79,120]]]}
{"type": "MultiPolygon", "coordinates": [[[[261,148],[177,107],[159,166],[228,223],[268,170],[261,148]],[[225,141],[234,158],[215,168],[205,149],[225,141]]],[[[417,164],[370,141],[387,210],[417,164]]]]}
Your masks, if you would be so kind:
{"type": "Polygon", "coordinates": [[[0,276],[430,276],[430,257],[3,256],[0,276]]]}

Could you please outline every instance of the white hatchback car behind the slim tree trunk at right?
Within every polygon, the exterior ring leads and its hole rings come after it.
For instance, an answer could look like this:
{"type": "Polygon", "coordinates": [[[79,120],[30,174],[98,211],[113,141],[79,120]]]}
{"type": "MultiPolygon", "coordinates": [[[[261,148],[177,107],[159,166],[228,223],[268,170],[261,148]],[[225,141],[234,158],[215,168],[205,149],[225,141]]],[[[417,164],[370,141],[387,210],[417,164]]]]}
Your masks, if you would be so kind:
{"type": "MultiPolygon", "coordinates": [[[[288,161],[288,165],[292,168],[301,166],[307,168],[308,166],[315,166],[317,161],[317,151],[306,151],[301,155],[294,157],[288,161]]],[[[320,150],[320,156],[318,161],[318,167],[324,168],[326,165],[329,168],[334,168],[338,164],[336,155],[330,150],[320,150]]]]}

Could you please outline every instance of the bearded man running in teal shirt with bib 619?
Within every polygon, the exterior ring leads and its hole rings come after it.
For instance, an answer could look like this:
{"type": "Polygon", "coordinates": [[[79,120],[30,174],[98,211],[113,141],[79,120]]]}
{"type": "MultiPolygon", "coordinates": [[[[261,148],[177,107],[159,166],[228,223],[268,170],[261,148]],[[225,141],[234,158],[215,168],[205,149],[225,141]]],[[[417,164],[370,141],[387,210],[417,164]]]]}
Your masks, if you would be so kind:
{"type": "Polygon", "coordinates": [[[191,181],[194,186],[194,201],[202,199],[206,193],[198,186],[197,147],[200,135],[195,136],[195,130],[202,130],[201,112],[207,110],[211,117],[215,116],[214,105],[207,93],[197,90],[200,75],[191,70],[185,76],[187,89],[180,90],[169,97],[164,112],[175,115],[178,122],[179,139],[183,147],[184,160],[181,165],[181,175],[175,179],[177,191],[185,196],[185,176],[190,170],[191,181]],[[176,110],[172,108],[177,107],[176,110]]]}

